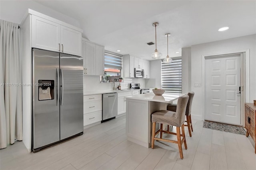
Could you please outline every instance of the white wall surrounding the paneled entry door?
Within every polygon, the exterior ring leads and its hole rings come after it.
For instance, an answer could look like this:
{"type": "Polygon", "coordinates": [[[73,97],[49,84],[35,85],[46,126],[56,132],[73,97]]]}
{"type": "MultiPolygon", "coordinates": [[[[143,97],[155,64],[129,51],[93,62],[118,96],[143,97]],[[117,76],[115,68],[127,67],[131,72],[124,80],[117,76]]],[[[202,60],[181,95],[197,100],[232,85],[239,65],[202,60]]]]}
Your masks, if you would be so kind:
{"type": "MultiPolygon", "coordinates": [[[[191,91],[195,92],[192,104],[194,118],[202,119],[204,114],[202,109],[204,99],[202,88],[204,87],[194,87],[194,83],[202,83],[202,55],[230,53],[246,49],[250,50],[250,64],[248,65],[250,74],[246,73],[246,77],[250,80],[250,89],[247,89],[250,95],[246,97],[249,99],[246,102],[253,103],[253,100],[256,99],[256,34],[191,46],[191,91]]],[[[182,77],[182,79],[187,78],[182,77]]]]}

